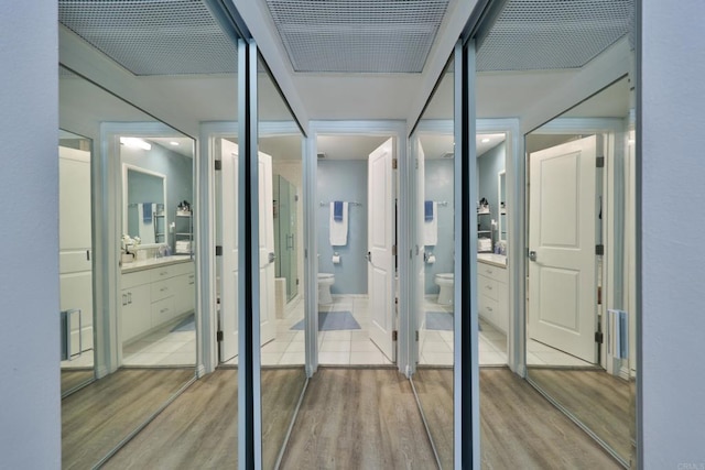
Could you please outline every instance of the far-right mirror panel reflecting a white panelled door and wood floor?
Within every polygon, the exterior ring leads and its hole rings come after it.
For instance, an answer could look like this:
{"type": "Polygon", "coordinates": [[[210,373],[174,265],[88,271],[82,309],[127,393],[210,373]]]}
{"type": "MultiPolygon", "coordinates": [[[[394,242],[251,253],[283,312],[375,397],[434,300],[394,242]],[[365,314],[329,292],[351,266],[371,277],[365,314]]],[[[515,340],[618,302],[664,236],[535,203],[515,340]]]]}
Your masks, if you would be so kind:
{"type": "Polygon", "coordinates": [[[528,379],[626,466],[636,450],[632,92],[625,76],[525,136],[528,379]]]}

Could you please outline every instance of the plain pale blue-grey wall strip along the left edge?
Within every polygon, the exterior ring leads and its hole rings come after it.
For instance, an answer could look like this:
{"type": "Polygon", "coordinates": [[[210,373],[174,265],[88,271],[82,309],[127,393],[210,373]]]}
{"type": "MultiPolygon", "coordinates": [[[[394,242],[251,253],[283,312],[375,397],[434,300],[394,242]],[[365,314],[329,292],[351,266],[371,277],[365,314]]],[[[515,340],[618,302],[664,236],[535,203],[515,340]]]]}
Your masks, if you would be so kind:
{"type": "Polygon", "coordinates": [[[0,14],[0,468],[61,467],[56,10],[0,14]]]}

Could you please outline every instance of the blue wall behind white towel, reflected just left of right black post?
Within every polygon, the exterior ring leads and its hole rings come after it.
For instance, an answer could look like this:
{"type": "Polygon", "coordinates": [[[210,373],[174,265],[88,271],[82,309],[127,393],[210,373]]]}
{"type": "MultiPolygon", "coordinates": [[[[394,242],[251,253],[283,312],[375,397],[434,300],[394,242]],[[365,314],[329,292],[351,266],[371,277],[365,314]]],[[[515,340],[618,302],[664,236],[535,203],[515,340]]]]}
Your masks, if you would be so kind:
{"type": "Polygon", "coordinates": [[[426,247],[426,252],[433,252],[436,262],[425,265],[425,293],[437,294],[438,286],[433,282],[436,273],[452,273],[453,263],[453,159],[425,161],[424,193],[426,200],[448,203],[438,206],[438,241],[435,247],[426,247]]]}

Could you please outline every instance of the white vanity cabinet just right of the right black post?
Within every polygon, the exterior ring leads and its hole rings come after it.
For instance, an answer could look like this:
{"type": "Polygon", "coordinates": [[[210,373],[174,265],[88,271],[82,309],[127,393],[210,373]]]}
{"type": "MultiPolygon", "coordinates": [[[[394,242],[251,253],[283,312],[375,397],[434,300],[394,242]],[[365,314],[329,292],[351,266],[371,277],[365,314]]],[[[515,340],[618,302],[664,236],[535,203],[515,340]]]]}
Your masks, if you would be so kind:
{"type": "Polygon", "coordinates": [[[477,294],[479,315],[502,332],[509,327],[507,256],[477,254],[477,294]]]}

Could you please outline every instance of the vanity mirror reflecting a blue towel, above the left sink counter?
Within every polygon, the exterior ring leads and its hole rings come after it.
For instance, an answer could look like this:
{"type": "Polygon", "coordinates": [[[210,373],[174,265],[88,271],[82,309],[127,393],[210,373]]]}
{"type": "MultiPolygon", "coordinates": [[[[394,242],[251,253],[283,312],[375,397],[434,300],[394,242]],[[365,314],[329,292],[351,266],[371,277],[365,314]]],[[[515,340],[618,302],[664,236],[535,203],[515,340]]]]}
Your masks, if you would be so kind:
{"type": "MultiPolygon", "coordinates": [[[[137,138],[126,138],[126,142],[132,142],[134,139],[137,138]]],[[[139,141],[151,147],[147,141],[139,141]]],[[[123,163],[122,197],[124,199],[122,209],[124,233],[132,239],[139,238],[142,245],[165,243],[169,227],[169,208],[164,205],[166,176],[123,163]]]]}

